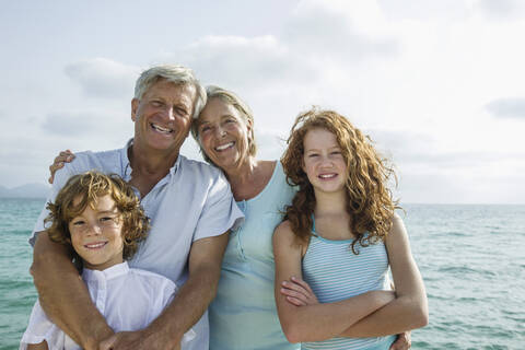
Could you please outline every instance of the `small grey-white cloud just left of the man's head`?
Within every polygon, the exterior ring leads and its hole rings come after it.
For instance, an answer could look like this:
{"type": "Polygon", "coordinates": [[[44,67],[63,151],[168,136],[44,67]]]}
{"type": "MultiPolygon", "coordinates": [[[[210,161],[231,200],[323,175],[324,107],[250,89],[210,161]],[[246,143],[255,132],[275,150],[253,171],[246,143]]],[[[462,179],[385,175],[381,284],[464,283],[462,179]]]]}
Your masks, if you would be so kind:
{"type": "Polygon", "coordinates": [[[88,96],[118,98],[133,95],[140,69],[106,58],[94,58],[68,65],[65,72],[88,96]]]}

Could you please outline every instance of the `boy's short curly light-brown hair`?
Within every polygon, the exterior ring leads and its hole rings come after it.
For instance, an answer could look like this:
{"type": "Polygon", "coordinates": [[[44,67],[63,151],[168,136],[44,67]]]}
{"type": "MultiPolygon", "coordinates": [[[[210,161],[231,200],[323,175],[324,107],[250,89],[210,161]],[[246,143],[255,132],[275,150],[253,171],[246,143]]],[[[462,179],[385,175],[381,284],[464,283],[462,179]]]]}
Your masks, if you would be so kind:
{"type": "MultiPolygon", "coordinates": [[[[119,220],[122,221],[122,258],[130,259],[137,252],[138,245],[147,236],[150,229],[150,219],[145,215],[133,189],[118,175],[104,175],[98,172],[86,172],[69,178],[58,192],[55,202],[48,202],[50,211],[45,219],[50,222],[47,229],[49,238],[56,243],[71,246],[69,223],[81,214],[88,206],[94,208],[97,199],[109,195],[118,209],[119,220]],[[74,200],[81,198],[74,205],[74,200]]],[[[78,255],[74,255],[78,260],[78,255]]]]}

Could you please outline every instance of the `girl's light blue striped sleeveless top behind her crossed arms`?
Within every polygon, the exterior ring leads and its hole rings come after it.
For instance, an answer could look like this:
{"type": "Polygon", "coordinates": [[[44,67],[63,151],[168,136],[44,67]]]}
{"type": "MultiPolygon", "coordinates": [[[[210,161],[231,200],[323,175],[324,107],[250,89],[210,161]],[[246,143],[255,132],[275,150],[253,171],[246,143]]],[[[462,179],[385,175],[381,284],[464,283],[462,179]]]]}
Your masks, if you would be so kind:
{"type": "MultiPolygon", "coordinates": [[[[303,258],[303,278],[320,303],[337,302],[371,290],[389,290],[388,256],[383,242],[368,247],[353,240],[330,241],[314,234],[303,258]]],[[[304,342],[301,349],[388,349],[394,336],[377,338],[336,337],[326,341],[304,342]]]]}

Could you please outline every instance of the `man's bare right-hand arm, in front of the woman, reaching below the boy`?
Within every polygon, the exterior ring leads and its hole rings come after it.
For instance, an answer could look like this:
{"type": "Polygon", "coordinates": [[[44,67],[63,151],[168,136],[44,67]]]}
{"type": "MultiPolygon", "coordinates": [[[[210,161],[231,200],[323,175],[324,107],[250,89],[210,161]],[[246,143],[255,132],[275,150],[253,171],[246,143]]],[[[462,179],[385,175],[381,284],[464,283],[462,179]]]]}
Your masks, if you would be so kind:
{"type": "Polygon", "coordinates": [[[228,234],[192,243],[189,277],[173,302],[143,330],[118,332],[101,349],[178,349],[184,334],[194,326],[217,294],[228,234]]]}

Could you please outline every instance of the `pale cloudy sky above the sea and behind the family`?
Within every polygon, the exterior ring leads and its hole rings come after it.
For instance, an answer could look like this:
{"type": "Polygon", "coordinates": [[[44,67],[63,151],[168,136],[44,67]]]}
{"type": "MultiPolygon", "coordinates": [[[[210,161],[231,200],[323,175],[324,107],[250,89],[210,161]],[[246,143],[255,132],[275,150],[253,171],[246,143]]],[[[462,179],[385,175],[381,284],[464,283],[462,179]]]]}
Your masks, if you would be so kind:
{"type": "Polygon", "coordinates": [[[124,147],[139,73],[179,63],[252,107],[259,159],[317,105],[393,161],[401,203],[525,203],[524,36],[521,0],[2,1],[0,185],[124,147]]]}

